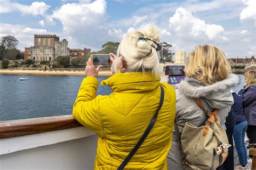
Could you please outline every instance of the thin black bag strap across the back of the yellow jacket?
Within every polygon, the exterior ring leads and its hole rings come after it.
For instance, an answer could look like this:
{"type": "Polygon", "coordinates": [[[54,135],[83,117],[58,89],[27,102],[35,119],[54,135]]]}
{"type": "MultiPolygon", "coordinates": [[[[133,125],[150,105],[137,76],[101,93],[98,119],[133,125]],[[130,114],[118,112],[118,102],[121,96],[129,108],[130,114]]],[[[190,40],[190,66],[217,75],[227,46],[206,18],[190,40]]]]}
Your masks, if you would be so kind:
{"type": "Polygon", "coordinates": [[[146,139],[147,135],[149,134],[149,132],[151,131],[151,129],[153,128],[154,123],[156,122],[157,119],[157,115],[159,110],[161,109],[161,106],[164,102],[164,89],[163,87],[161,87],[161,98],[160,98],[160,103],[157,109],[156,114],[154,115],[154,117],[152,118],[152,120],[150,121],[149,125],[147,126],[146,131],[144,132],[142,138],[139,139],[138,143],[133,147],[132,151],[127,155],[127,157],[125,158],[125,160],[122,162],[122,164],[117,168],[117,170],[121,170],[124,169],[124,167],[126,166],[126,164],[130,161],[130,159],[132,158],[132,156],[134,155],[134,153],[138,150],[138,148],[140,147],[140,145],[142,145],[143,141],[146,139]]]}

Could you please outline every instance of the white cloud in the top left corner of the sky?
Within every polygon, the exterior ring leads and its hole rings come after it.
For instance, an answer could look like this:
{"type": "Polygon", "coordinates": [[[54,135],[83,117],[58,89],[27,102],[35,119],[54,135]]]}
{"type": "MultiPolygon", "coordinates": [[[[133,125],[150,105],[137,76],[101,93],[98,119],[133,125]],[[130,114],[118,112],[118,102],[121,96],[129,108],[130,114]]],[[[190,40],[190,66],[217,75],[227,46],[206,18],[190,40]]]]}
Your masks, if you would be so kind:
{"type": "Polygon", "coordinates": [[[47,5],[44,2],[33,2],[31,5],[23,5],[17,2],[12,3],[8,0],[0,1],[0,13],[19,11],[23,15],[43,16],[50,7],[50,5],[47,5]]]}

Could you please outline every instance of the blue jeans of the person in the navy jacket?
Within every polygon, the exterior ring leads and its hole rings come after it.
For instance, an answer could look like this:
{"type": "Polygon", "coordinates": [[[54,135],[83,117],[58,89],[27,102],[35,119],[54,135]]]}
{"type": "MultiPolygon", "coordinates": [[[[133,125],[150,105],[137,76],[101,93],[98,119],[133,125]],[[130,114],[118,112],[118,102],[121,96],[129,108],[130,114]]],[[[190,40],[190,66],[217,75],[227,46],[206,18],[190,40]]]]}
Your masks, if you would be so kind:
{"type": "Polygon", "coordinates": [[[240,165],[247,164],[247,151],[245,146],[245,132],[247,129],[247,121],[242,121],[234,126],[233,137],[240,165]]]}

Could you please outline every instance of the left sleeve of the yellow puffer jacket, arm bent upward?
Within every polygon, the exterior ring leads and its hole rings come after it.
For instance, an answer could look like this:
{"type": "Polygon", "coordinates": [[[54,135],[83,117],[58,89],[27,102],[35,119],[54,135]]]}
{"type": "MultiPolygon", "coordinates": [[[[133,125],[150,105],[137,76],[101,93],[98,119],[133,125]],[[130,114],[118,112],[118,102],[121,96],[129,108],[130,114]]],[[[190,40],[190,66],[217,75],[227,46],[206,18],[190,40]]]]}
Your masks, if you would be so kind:
{"type": "Polygon", "coordinates": [[[86,77],[78,91],[73,105],[73,117],[86,128],[103,136],[103,124],[99,112],[99,97],[96,97],[98,80],[95,77],[86,77]]]}

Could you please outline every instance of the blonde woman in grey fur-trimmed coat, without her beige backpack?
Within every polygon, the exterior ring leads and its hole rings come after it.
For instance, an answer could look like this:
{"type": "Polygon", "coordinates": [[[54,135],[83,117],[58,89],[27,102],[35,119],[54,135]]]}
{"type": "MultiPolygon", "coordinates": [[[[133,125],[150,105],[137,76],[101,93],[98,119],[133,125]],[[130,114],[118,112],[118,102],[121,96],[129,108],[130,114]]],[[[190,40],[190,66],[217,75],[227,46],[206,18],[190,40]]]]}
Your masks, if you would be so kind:
{"type": "MultiPolygon", "coordinates": [[[[231,86],[238,83],[238,77],[230,72],[227,58],[217,46],[199,45],[190,53],[185,65],[186,79],[180,82],[176,90],[176,122],[180,134],[187,122],[198,127],[204,125],[208,118],[194,98],[199,98],[206,110],[219,109],[218,116],[224,125],[233,104],[231,86]]],[[[184,169],[175,131],[167,162],[168,169],[184,169]]]]}

